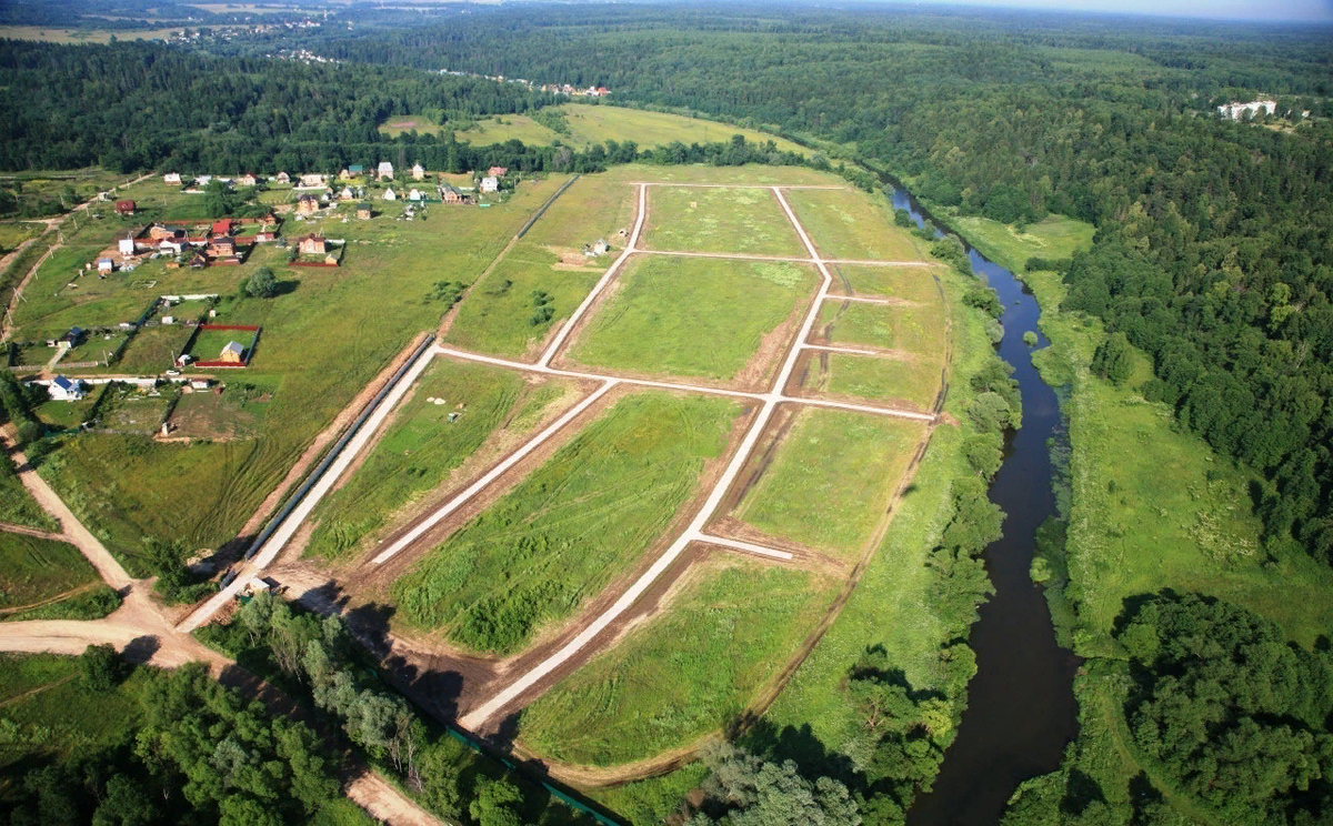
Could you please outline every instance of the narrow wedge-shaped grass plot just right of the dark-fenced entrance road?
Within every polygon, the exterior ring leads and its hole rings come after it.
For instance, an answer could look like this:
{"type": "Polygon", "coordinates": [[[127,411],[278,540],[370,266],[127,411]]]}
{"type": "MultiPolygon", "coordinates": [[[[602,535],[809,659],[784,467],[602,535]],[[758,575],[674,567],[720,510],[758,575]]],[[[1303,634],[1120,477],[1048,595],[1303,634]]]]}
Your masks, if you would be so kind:
{"type": "Polygon", "coordinates": [[[563,381],[437,358],[365,464],[320,502],[313,514],[319,526],[305,552],[337,558],[365,546],[396,514],[448,484],[469,458],[500,458],[503,446],[575,396],[563,381]]]}

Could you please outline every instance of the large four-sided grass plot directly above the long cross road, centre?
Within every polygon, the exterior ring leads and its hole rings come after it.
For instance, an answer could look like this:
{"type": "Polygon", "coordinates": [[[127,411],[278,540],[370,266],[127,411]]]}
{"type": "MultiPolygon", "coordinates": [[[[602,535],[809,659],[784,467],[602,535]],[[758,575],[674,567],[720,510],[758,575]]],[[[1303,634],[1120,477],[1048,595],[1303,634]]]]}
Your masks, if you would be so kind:
{"type": "MultiPolygon", "coordinates": [[[[753,365],[764,338],[814,286],[806,265],[672,256],[636,256],[617,280],[617,292],[569,357],[616,370],[718,381],[733,381],[753,365]]],[[[748,378],[760,384],[766,376],[748,378]]]]}

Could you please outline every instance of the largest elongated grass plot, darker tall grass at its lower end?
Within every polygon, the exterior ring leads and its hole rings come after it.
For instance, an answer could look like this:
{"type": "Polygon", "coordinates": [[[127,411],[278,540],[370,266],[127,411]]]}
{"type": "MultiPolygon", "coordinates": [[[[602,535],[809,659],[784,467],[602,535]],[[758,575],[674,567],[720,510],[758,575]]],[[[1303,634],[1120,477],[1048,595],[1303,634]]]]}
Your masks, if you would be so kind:
{"type": "Polygon", "coordinates": [[[399,580],[399,616],[473,650],[520,649],[666,530],[740,413],[720,398],[621,398],[399,580]]]}

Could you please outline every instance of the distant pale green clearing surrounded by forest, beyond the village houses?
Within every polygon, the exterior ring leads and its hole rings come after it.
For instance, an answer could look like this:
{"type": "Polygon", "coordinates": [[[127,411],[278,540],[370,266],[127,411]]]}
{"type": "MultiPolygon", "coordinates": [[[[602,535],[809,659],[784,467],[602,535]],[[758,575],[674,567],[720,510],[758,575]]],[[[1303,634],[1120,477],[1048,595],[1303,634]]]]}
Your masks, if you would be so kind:
{"type": "MultiPolygon", "coordinates": [[[[455,132],[455,137],[473,147],[503,144],[509,140],[520,140],[528,145],[543,147],[559,140],[565,145],[587,149],[592,144],[604,144],[608,140],[613,140],[617,143],[635,141],[641,149],[649,149],[672,141],[680,141],[685,145],[722,143],[732,140],[733,135],[744,135],[745,140],[757,144],[773,141],[782,152],[810,153],[810,149],[800,144],[793,144],[789,140],[756,129],[684,117],[681,115],[587,104],[563,104],[551,107],[551,109],[564,115],[565,124],[569,128],[568,135],[555,132],[527,115],[503,115],[480,120],[472,128],[455,132]]],[[[409,129],[416,129],[419,135],[425,135],[440,133],[447,128],[432,124],[431,119],[425,116],[396,115],[380,127],[380,132],[393,137],[409,129]],[[403,125],[408,123],[415,124],[415,127],[403,125]]]]}

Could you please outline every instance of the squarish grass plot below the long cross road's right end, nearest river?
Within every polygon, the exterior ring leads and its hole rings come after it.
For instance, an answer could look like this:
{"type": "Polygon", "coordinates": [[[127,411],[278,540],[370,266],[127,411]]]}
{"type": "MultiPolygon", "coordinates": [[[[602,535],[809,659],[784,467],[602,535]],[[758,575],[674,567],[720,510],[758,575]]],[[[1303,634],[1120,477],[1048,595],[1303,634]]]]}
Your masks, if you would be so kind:
{"type": "Polygon", "coordinates": [[[733,513],[765,533],[853,558],[884,518],[922,426],[874,413],[798,409],[733,513]]]}

